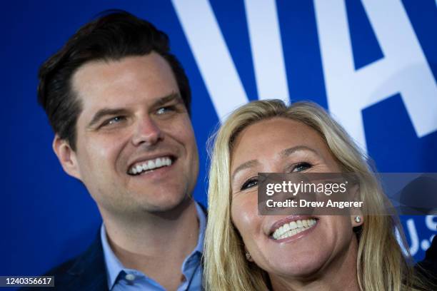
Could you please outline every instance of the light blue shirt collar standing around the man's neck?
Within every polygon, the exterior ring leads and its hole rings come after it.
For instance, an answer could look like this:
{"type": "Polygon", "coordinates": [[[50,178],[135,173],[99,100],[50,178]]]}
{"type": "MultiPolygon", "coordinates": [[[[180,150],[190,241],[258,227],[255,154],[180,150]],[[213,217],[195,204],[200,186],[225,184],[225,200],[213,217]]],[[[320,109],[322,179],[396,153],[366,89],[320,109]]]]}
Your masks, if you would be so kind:
{"type": "MultiPolygon", "coordinates": [[[[204,213],[204,210],[196,201],[194,201],[194,204],[196,205],[197,218],[199,219],[199,238],[197,240],[196,247],[194,248],[193,252],[191,252],[191,255],[195,254],[196,252],[199,252],[200,254],[203,253],[204,236],[205,236],[205,229],[206,229],[206,215],[204,213]]],[[[117,277],[119,276],[120,272],[124,272],[124,270],[127,269],[126,267],[124,267],[123,264],[121,264],[119,259],[112,251],[108,239],[106,238],[106,229],[104,223],[101,224],[100,238],[101,238],[101,245],[104,251],[106,275],[108,277],[108,287],[109,290],[111,290],[114,284],[116,283],[117,277]]],[[[189,255],[189,257],[191,255],[189,255]]]]}

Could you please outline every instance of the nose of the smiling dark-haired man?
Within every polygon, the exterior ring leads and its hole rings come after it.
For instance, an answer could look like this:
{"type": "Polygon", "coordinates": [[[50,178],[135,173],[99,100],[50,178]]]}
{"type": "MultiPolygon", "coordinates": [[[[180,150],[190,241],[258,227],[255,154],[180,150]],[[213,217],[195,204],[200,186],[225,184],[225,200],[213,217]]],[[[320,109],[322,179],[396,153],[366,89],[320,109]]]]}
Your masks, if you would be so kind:
{"type": "Polygon", "coordinates": [[[164,139],[164,133],[158,124],[156,124],[156,121],[149,116],[139,119],[134,136],[132,137],[134,146],[140,146],[141,144],[153,146],[162,139],[164,139]]]}

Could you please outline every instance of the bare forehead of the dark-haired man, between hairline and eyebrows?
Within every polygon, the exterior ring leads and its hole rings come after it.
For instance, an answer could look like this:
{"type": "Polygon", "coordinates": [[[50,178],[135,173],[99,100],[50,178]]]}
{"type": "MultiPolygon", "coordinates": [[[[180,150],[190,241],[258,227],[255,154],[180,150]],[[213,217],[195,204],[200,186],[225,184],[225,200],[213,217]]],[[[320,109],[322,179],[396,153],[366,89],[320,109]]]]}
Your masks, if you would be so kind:
{"type": "Polygon", "coordinates": [[[169,64],[156,53],[85,63],[74,73],[71,85],[85,107],[99,107],[99,103],[121,106],[139,99],[154,103],[179,94],[169,64]]]}

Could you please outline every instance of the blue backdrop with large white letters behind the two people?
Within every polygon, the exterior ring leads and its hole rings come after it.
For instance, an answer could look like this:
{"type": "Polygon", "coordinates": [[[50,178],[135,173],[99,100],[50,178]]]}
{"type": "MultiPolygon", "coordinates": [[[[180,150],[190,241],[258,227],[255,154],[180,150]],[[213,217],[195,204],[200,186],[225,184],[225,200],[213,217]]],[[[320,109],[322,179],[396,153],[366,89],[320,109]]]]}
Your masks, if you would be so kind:
{"type": "MultiPolygon", "coordinates": [[[[1,18],[0,275],[38,275],[94,239],[101,219],[51,150],[36,105],[39,65],[95,14],[118,8],[171,39],[189,76],[206,204],[205,143],[232,108],[258,98],[328,108],[381,172],[437,172],[434,0],[9,1],[1,18]]],[[[403,217],[420,260],[436,216],[403,217]]]]}

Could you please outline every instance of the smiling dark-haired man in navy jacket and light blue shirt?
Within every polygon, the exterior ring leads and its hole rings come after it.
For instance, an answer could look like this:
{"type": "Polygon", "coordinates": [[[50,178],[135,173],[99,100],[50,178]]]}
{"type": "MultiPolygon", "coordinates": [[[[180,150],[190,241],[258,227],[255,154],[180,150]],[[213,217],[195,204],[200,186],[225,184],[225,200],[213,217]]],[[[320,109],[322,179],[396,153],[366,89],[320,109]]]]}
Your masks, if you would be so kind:
{"type": "Polygon", "coordinates": [[[191,91],[163,32],[124,11],[91,21],[39,71],[54,152],[103,219],[59,290],[199,290],[204,210],[191,91]]]}

